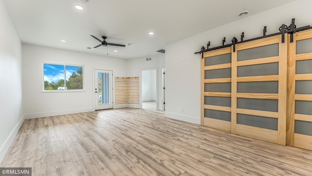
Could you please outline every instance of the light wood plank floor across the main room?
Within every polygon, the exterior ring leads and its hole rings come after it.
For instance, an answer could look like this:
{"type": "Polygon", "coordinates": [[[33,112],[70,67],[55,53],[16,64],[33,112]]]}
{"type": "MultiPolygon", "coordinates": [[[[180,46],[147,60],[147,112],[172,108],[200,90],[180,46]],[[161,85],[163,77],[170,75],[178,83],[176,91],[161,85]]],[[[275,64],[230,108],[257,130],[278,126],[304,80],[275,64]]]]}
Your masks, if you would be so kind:
{"type": "Polygon", "coordinates": [[[27,119],[0,167],[33,176],[311,176],[312,151],[116,109],[27,119]]]}

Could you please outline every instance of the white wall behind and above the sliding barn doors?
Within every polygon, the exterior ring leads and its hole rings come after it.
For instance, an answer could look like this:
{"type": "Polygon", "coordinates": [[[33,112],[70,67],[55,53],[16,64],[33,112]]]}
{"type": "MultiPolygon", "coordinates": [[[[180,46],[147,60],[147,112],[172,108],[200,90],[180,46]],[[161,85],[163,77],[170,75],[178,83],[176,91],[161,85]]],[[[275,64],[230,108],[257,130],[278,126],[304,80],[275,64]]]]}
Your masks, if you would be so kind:
{"type": "Polygon", "coordinates": [[[243,18],[201,34],[176,41],[166,46],[166,113],[167,117],[193,123],[200,123],[200,56],[195,55],[201,46],[211,48],[226,44],[236,37],[240,40],[262,36],[267,26],[267,34],[279,32],[282,24],[289,25],[295,18],[296,26],[312,25],[312,0],[296,0],[286,5],[243,18]],[[181,59],[186,61],[181,63],[181,59]],[[181,112],[183,108],[183,112],[181,112]]]}

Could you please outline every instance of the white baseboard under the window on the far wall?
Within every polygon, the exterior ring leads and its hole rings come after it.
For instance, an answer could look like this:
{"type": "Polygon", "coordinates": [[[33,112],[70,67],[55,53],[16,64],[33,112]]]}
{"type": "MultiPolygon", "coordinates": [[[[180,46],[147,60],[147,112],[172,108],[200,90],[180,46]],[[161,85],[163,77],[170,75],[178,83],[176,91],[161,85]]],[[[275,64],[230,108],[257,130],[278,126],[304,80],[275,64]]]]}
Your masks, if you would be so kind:
{"type": "Polygon", "coordinates": [[[32,114],[25,114],[25,119],[30,118],[40,118],[40,117],[51,117],[51,116],[59,116],[59,115],[66,115],[66,114],[75,114],[75,113],[85,113],[94,111],[94,107],[91,108],[82,108],[82,109],[70,109],[70,110],[63,110],[63,111],[50,111],[50,112],[42,112],[42,113],[32,113],[32,114]]]}

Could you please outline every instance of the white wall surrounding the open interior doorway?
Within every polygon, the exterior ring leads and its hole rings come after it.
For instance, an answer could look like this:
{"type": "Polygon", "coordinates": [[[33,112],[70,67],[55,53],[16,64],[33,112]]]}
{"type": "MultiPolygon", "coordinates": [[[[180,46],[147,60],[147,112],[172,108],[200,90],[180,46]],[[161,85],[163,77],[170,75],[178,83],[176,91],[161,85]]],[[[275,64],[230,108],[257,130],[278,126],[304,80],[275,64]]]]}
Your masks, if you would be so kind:
{"type": "MultiPolygon", "coordinates": [[[[152,70],[157,69],[157,92],[158,92],[158,104],[157,109],[162,110],[162,87],[161,87],[161,69],[165,68],[165,55],[160,54],[153,56],[151,61],[146,61],[146,58],[137,58],[137,59],[127,59],[127,75],[128,77],[140,77],[141,81],[141,71],[142,70],[152,70]]],[[[140,85],[141,90],[141,85],[140,85]]],[[[140,100],[140,105],[133,106],[135,108],[141,108],[142,102],[140,100]]]]}

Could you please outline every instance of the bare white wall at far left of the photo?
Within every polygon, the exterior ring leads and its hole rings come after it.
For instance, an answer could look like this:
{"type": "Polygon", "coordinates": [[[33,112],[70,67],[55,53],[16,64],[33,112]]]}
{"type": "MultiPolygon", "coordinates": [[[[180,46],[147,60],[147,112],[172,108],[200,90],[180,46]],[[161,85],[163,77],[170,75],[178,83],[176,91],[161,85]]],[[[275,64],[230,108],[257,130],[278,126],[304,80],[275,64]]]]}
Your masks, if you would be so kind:
{"type": "Polygon", "coordinates": [[[0,162],[23,122],[21,42],[0,0],[0,162]]]}

